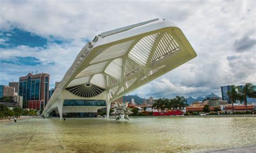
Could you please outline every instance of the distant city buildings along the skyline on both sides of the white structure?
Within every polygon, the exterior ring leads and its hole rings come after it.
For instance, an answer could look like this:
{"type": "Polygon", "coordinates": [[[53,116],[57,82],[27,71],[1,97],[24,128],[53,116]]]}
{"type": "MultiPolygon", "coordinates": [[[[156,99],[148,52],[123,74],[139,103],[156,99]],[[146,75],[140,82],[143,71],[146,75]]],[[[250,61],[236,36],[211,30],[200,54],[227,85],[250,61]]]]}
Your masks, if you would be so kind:
{"type": "MultiPolygon", "coordinates": [[[[18,82],[9,82],[9,86],[0,85],[0,102],[8,107],[18,106],[21,108],[43,110],[59,83],[60,82],[55,82],[55,88],[50,89],[50,74],[28,73],[26,76],[19,77],[18,82]]],[[[243,88],[244,86],[240,85],[238,87],[243,88]]],[[[231,90],[231,86],[222,86],[220,89],[222,98],[214,93],[196,99],[191,96],[186,98],[188,107],[184,108],[184,111],[200,112],[205,105],[210,106],[210,110],[218,107],[222,111],[230,111],[231,100],[227,92],[231,90]]],[[[255,86],[254,89],[256,90],[255,86]]],[[[137,95],[124,95],[114,102],[123,103],[125,101],[129,102],[129,107],[137,107],[142,110],[143,107],[150,108],[155,102],[155,99],[152,96],[149,98],[140,98],[137,95]]],[[[248,103],[252,103],[252,105],[248,106],[248,109],[255,109],[256,100],[247,98],[247,101],[248,103]]],[[[114,107],[114,102],[111,105],[112,108],[114,107]]],[[[235,102],[234,110],[243,109],[245,109],[245,107],[242,103],[239,103],[239,101],[235,102]]],[[[152,109],[148,110],[153,111],[152,109]]]]}

